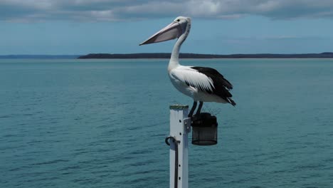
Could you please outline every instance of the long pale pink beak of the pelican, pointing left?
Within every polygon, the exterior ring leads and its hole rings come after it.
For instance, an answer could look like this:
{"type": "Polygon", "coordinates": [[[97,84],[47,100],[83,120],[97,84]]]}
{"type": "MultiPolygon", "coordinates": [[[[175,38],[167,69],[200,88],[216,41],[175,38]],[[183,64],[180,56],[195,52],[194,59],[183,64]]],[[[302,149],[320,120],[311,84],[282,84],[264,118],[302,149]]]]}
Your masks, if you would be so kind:
{"type": "Polygon", "coordinates": [[[169,41],[174,38],[178,38],[183,33],[181,26],[178,22],[174,21],[169,24],[169,26],[166,26],[165,28],[162,28],[161,31],[155,33],[153,36],[147,39],[147,41],[144,41],[143,43],[140,43],[139,45],[144,45],[148,43],[159,43],[163,41],[169,41]]]}

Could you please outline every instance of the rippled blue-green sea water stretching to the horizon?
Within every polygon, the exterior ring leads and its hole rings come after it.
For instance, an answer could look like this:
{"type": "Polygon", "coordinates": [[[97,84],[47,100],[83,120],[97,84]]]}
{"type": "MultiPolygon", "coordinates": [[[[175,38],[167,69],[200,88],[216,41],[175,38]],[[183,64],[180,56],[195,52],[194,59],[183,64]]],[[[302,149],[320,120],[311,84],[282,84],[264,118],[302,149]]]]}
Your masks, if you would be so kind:
{"type": "MultiPolygon", "coordinates": [[[[184,60],[237,106],[189,148],[190,187],[333,187],[333,60],[184,60]]],[[[0,60],[0,187],[169,187],[167,60],[0,60]]]]}

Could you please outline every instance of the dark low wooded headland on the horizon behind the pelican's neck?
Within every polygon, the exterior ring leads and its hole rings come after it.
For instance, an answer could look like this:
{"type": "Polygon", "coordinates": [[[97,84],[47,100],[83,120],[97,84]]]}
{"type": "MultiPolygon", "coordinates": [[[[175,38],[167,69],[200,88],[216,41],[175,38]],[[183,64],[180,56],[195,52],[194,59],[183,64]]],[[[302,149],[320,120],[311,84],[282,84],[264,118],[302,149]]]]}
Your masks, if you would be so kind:
{"type": "MultiPolygon", "coordinates": [[[[170,53],[90,53],[79,56],[79,59],[131,59],[131,58],[170,58],[170,53]]],[[[298,53],[298,54],[275,54],[275,53],[256,53],[256,54],[231,54],[215,55],[200,53],[180,53],[179,58],[333,58],[333,52],[324,53],[298,53]]]]}

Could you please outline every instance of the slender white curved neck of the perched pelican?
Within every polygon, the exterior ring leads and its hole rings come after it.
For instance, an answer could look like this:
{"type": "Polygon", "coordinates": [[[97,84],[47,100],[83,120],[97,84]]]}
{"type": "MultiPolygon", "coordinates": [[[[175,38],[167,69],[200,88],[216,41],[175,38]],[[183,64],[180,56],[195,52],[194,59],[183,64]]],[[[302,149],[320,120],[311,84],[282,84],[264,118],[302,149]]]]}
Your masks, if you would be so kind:
{"type": "Polygon", "coordinates": [[[181,48],[181,44],[184,43],[186,37],[189,35],[190,28],[191,23],[188,22],[186,26],[186,31],[181,36],[179,36],[178,40],[174,44],[174,48],[172,49],[171,58],[169,61],[168,71],[171,71],[172,69],[179,66],[179,51],[181,48]]]}

